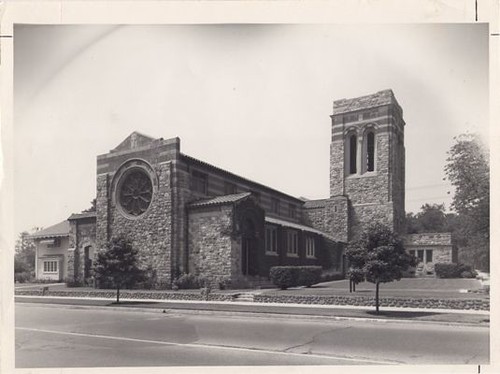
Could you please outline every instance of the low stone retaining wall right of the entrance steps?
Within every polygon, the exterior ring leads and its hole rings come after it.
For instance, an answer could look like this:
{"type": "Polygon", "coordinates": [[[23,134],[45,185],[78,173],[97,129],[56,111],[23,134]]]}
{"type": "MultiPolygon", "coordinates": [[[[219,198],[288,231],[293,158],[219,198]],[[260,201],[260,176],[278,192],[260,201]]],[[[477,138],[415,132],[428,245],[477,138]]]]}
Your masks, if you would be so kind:
{"type": "MultiPolygon", "coordinates": [[[[258,303],[294,303],[319,305],[354,305],[375,306],[374,297],[365,296],[292,296],[292,295],[255,295],[258,303]]],[[[383,297],[379,299],[380,306],[400,308],[428,309],[465,309],[489,310],[490,300],[481,299],[431,299],[431,298],[397,298],[383,297]]]]}

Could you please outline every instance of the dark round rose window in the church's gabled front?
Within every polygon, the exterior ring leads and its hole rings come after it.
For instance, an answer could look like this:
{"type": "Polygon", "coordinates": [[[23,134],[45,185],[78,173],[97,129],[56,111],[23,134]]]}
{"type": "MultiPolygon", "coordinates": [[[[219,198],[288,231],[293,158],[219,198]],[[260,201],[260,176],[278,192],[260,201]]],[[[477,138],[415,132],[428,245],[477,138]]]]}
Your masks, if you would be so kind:
{"type": "Polygon", "coordinates": [[[140,216],[148,209],[152,197],[153,185],[144,171],[134,170],[125,176],[120,188],[119,201],[126,213],[140,216]]]}

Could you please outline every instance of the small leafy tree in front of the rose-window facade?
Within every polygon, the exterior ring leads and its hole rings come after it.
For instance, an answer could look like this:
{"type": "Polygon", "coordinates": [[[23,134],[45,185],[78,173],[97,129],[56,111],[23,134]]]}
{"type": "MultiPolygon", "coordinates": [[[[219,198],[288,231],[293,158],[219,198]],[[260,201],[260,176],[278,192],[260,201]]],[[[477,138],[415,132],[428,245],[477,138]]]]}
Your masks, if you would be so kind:
{"type": "Polygon", "coordinates": [[[120,303],[120,289],[131,288],[143,280],[143,271],[137,266],[137,250],[130,240],[111,239],[104,250],[97,253],[94,266],[99,287],[116,288],[116,303],[120,303]]]}

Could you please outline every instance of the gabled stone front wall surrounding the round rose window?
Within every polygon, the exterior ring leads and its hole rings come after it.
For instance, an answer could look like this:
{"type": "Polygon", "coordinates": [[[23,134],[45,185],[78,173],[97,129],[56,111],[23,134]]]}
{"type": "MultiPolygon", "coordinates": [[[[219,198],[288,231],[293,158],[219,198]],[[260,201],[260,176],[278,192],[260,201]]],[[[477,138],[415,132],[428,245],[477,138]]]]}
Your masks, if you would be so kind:
{"type": "Polygon", "coordinates": [[[139,251],[140,266],[154,270],[155,286],[160,288],[171,283],[171,169],[179,148],[178,138],[152,139],[133,133],[119,147],[97,158],[97,247],[104,248],[113,237],[130,238],[139,251]],[[120,179],[132,169],[143,170],[153,185],[150,205],[138,216],[124,214],[117,201],[120,179]]]}

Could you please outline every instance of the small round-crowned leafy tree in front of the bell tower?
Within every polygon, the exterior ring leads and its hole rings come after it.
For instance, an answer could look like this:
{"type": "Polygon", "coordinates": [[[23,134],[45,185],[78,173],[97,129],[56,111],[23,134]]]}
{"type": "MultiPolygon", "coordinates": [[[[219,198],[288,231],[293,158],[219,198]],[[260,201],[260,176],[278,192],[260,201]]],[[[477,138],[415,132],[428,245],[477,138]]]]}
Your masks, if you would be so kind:
{"type": "Polygon", "coordinates": [[[350,243],[346,255],[352,274],[375,284],[377,313],[380,283],[400,280],[404,271],[417,264],[417,259],[406,252],[402,240],[380,223],[369,226],[359,240],[350,243]]]}

